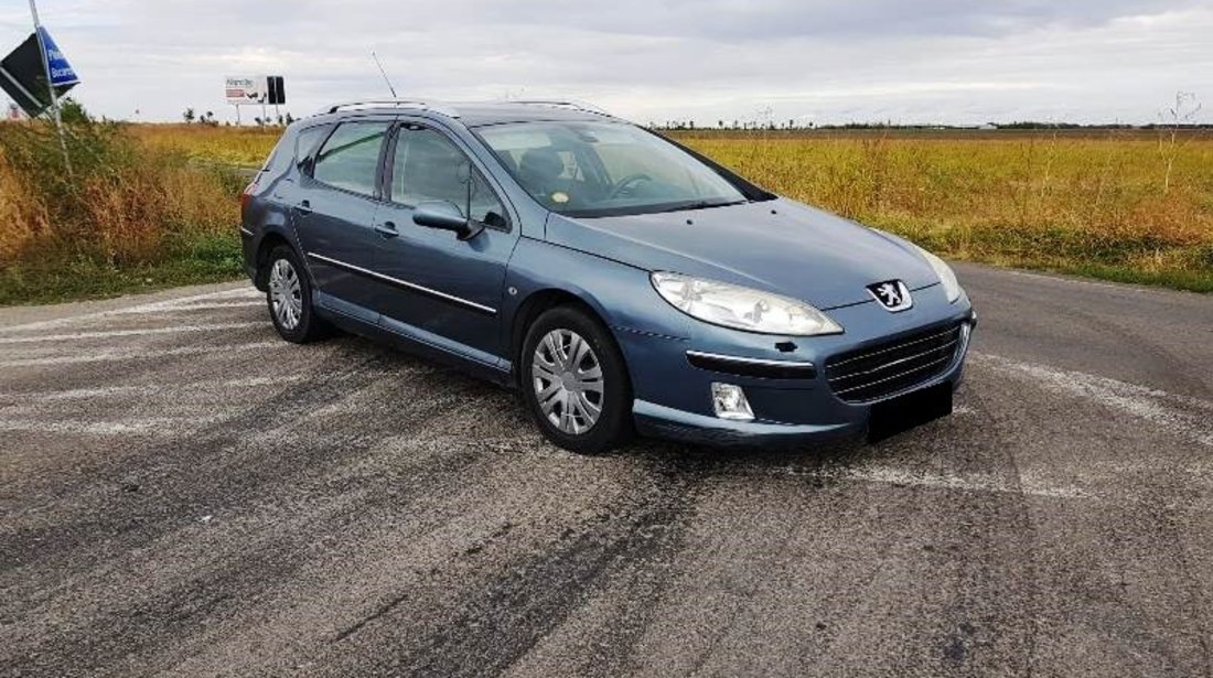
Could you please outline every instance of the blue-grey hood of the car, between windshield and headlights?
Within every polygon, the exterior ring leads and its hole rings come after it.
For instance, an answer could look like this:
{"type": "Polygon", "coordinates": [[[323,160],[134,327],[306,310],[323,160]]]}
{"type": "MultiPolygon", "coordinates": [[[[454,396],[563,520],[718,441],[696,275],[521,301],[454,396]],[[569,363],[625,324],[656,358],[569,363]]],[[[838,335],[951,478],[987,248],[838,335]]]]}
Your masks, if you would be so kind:
{"type": "Polygon", "coordinates": [[[553,213],[547,240],[645,270],[781,294],[827,310],[872,301],[866,287],[939,283],[904,240],[792,200],[626,217],[553,213]]]}

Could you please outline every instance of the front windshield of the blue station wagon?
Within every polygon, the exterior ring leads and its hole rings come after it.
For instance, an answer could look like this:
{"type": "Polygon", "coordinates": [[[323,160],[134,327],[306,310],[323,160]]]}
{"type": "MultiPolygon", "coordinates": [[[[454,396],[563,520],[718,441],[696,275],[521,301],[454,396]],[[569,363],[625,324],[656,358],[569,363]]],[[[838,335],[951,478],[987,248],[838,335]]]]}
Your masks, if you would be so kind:
{"type": "Polygon", "coordinates": [[[477,132],[523,188],[562,215],[640,215],[746,200],[707,165],[632,125],[518,123],[477,132]]]}

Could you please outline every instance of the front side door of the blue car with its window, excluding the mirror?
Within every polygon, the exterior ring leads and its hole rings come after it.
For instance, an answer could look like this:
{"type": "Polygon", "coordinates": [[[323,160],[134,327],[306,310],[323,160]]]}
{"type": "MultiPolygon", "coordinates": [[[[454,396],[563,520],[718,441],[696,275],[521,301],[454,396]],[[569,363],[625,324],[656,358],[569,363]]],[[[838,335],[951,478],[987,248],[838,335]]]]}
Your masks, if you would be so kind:
{"type": "Polygon", "coordinates": [[[400,285],[378,304],[381,323],[472,359],[500,364],[506,357],[500,325],[502,285],[519,229],[511,226],[485,173],[444,132],[405,124],[391,147],[387,194],[376,216],[382,239],[376,269],[400,285]],[[426,200],[448,200],[465,215],[471,205],[471,217],[486,228],[461,241],[451,232],[417,226],[412,209],[426,200]]]}

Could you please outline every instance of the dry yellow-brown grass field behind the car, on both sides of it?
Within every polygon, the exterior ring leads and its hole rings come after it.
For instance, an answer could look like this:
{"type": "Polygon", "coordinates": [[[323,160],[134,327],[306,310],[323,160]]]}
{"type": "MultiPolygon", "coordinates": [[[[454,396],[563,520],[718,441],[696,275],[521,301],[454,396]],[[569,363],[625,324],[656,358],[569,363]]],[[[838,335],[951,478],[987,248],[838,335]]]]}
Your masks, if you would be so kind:
{"type": "MultiPolygon", "coordinates": [[[[30,170],[41,163],[45,172],[53,158],[32,164],[13,144],[0,146],[0,263],[8,269],[0,275],[0,303],[238,275],[239,181],[226,167],[258,165],[278,135],[255,127],[118,127],[109,142],[118,150],[107,153],[121,161],[90,175],[78,189],[85,198],[80,213],[67,226],[62,210],[52,207],[55,195],[39,188],[30,170]],[[167,241],[190,243],[189,256],[201,243],[206,266],[182,268],[184,255],[166,249],[167,241]],[[73,283],[47,285],[40,279],[46,264],[64,256],[76,267],[73,283]],[[98,279],[81,283],[93,269],[98,279]]],[[[8,136],[0,131],[0,141],[8,136]]],[[[672,136],[776,193],[951,258],[1213,291],[1213,136],[1207,133],[672,136]]]]}

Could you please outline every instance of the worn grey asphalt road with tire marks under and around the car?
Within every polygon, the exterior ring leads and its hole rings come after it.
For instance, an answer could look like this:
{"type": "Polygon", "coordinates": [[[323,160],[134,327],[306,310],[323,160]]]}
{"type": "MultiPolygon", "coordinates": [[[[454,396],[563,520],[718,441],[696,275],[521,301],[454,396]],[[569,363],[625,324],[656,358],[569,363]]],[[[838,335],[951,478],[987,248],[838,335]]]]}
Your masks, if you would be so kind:
{"type": "Polygon", "coordinates": [[[2,676],[1211,676],[1213,298],[959,267],[955,416],[582,458],[246,285],[0,310],[2,676]]]}

